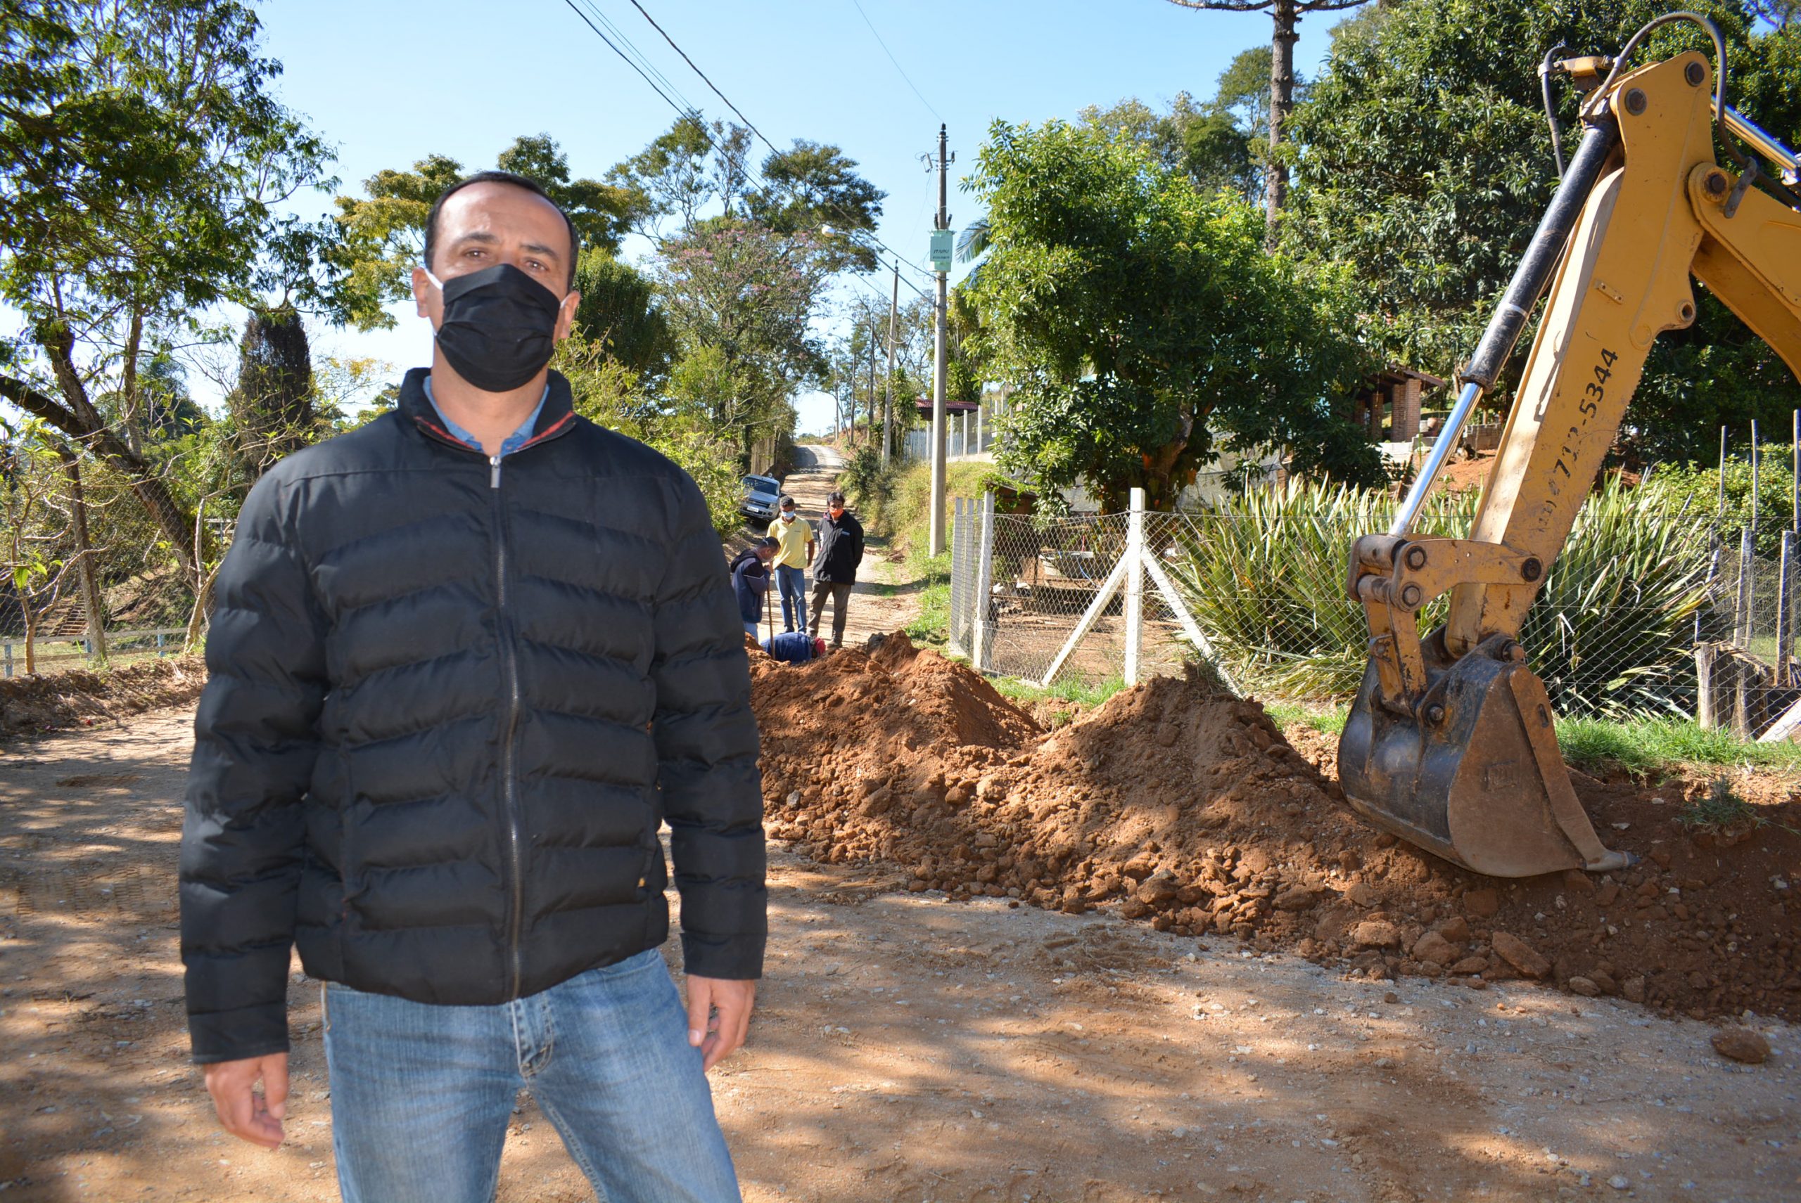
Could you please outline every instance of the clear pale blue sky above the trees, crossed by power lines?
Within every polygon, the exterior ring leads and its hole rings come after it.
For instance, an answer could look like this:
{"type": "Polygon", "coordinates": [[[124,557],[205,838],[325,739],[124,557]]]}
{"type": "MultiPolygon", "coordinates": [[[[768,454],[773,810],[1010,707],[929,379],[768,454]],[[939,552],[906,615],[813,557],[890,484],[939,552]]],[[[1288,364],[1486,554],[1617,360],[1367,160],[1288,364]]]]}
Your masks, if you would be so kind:
{"type": "MultiPolygon", "coordinates": [[[[630,0],[576,4],[598,9],[708,117],[729,117],[630,0]]],[[[778,146],[801,137],[855,158],[888,193],[881,238],[917,263],[926,261],[937,200],[920,155],[933,148],[940,119],[956,155],[951,223],[960,229],[978,207],[958,194],[956,178],[996,117],[1073,117],[1127,95],[1162,108],[1181,90],[1205,99],[1234,54],[1270,38],[1266,13],[1189,11],[1167,0],[639,4],[778,146]]],[[[520,133],[549,133],[576,175],[600,176],[675,117],[567,0],[259,0],[256,7],[265,50],[285,67],[277,92],[337,148],[346,191],[360,193],[382,167],[429,153],[488,167],[520,133]]],[[[1313,74],[1342,16],[1302,22],[1295,49],[1302,74],[1313,74]]],[[[330,198],[304,196],[301,209],[324,213],[330,198]]],[[[879,288],[886,295],[886,276],[879,288]]],[[[396,369],[425,362],[429,328],[411,306],[396,315],[393,331],[317,331],[315,353],[373,355],[396,369]]],[[[801,398],[800,411],[803,430],[821,429],[830,398],[801,398]]]]}

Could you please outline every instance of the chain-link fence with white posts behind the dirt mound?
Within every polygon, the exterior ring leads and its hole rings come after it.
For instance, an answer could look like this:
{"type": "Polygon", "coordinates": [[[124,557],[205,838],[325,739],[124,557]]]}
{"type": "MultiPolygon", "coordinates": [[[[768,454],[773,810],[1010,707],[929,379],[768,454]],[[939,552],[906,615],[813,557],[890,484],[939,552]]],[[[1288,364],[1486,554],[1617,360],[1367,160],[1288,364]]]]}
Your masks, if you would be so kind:
{"type": "MultiPolygon", "coordinates": [[[[1261,504],[1261,502],[1259,502],[1261,504]]],[[[1367,663],[1369,629],[1345,592],[1356,533],[1380,529],[1344,510],[1252,504],[1252,513],[1145,513],[1138,672],[1172,674],[1205,657],[1261,697],[1342,704],[1367,663]],[[1199,639],[1185,627],[1192,620],[1199,639]]],[[[949,645],[983,672],[1043,684],[1099,686],[1126,677],[1127,582],[1106,602],[1129,547],[1129,515],[1032,519],[953,506],[949,645]],[[1091,612],[1093,611],[1093,612],[1091,612]],[[1088,630],[1077,639],[1084,616],[1088,630]]],[[[1462,519],[1443,520],[1452,533],[1462,519]]],[[[1725,641],[1734,663],[1787,666],[1740,684],[1760,697],[1749,733],[1767,729],[1801,690],[1794,625],[1783,611],[1778,564],[1747,560],[1680,515],[1650,515],[1601,501],[1570,533],[1520,629],[1529,665],[1565,717],[1634,720],[1709,713],[1707,656],[1725,641]],[[1743,594],[1743,596],[1742,596],[1743,594]],[[1781,638],[1781,648],[1778,639],[1781,638]],[[1754,690],[1752,690],[1754,692],[1754,690]]],[[[1129,578],[1131,573],[1120,573],[1129,578]]],[[[1421,632],[1444,621],[1448,598],[1419,614],[1421,632]]],[[[1713,684],[1718,690],[1716,684],[1713,684]]]]}

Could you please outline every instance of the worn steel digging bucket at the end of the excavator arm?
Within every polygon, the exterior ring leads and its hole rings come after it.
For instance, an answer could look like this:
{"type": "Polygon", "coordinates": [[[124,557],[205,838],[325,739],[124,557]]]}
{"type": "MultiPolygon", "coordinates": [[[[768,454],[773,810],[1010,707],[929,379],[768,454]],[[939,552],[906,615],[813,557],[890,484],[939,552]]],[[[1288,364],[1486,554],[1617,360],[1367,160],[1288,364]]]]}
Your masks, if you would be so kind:
{"type": "Polygon", "coordinates": [[[1414,715],[1383,706],[1374,665],[1363,674],[1338,742],[1351,805],[1491,877],[1625,863],[1599,846],[1576,801],[1538,679],[1482,648],[1455,663],[1434,657],[1439,648],[1426,641],[1428,688],[1414,715]]]}

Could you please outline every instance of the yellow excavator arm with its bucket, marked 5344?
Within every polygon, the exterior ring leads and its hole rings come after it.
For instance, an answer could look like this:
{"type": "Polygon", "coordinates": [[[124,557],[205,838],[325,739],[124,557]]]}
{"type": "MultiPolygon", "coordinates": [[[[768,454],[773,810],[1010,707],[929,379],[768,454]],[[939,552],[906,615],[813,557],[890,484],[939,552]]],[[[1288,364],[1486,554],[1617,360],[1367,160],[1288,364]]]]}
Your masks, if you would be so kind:
{"type": "Polygon", "coordinates": [[[1497,877],[1630,863],[1601,845],[1581,809],[1551,701],[1516,636],[1653,340],[1695,321],[1689,277],[1801,376],[1801,213],[1756,187],[1756,157],[1738,171],[1715,160],[1715,122],[1722,140],[1747,140],[1779,167],[1794,171],[1796,157],[1725,106],[1702,54],[1621,74],[1648,29],[1617,61],[1576,59],[1612,72],[1583,106],[1569,171],[1394,526],[1351,551],[1349,591],[1371,643],[1338,747],[1345,794],[1380,827],[1497,877]],[[1470,538],[1412,537],[1434,475],[1547,281],[1470,538]],[[1419,611],[1446,591],[1446,625],[1421,638],[1419,611]]]}

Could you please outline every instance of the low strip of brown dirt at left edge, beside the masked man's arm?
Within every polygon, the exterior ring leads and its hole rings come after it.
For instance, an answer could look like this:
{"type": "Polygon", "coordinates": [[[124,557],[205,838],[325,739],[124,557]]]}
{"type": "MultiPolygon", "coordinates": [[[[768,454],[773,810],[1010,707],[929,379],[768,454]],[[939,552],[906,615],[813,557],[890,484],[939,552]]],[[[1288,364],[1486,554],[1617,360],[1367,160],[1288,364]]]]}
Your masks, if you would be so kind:
{"type": "Polygon", "coordinates": [[[0,738],[193,706],[205,683],[207,666],[198,656],[146,659],[103,672],[76,668],[5,677],[0,679],[0,738]]]}

